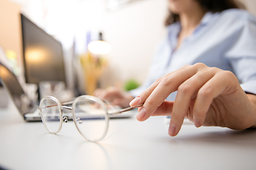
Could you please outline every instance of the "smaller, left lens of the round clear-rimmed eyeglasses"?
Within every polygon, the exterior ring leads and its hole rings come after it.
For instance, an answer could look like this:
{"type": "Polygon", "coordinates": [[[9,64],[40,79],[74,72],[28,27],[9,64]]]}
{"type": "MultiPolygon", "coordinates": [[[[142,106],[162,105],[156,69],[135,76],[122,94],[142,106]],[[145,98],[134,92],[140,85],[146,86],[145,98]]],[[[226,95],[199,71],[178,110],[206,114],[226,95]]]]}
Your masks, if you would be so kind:
{"type": "Polygon", "coordinates": [[[60,131],[60,106],[53,98],[44,98],[40,103],[43,124],[51,133],[60,131]]]}

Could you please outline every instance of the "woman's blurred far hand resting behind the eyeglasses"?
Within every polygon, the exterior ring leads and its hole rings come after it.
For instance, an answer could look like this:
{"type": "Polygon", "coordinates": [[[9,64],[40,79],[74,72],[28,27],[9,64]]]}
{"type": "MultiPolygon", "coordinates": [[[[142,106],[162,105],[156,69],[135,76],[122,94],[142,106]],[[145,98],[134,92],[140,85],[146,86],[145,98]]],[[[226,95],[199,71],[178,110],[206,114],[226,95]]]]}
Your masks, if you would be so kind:
{"type": "Polygon", "coordinates": [[[125,94],[116,87],[110,87],[108,89],[96,89],[93,95],[98,98],[105,98],[113,105],[121,106],[122,108],[128,107],[129,102],[134,99],[133,96],[125,94]]]}

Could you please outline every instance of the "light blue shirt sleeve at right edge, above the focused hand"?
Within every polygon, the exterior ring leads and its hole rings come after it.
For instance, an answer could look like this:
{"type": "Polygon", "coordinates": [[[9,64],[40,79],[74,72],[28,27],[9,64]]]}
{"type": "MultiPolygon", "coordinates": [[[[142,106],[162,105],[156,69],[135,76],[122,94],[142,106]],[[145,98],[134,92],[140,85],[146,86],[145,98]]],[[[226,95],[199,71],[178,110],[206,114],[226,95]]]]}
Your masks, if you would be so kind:
{"type": "Polygon", "coordinates": [[[256,17],[247,13],[241,22],[236,33],[237,39],[226,57],[242,89],[256,94],[256,17]]]}

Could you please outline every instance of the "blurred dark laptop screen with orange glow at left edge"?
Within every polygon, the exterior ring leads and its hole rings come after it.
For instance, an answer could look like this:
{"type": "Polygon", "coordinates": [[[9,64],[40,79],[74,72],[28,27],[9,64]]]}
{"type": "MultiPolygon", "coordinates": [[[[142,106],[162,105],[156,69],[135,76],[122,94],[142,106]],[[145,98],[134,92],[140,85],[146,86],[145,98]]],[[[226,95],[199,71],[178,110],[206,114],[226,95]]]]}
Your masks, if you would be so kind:
{"type": "Polygon", "coordinates": [[[29,101],[28,96],[24,93],[21,84],[19,84],[16,76],[3,64],[0,63],[0,79],[5,89],[14,101],[18,111],[25,115],[33,108],[33,103],[29,101]]]}

